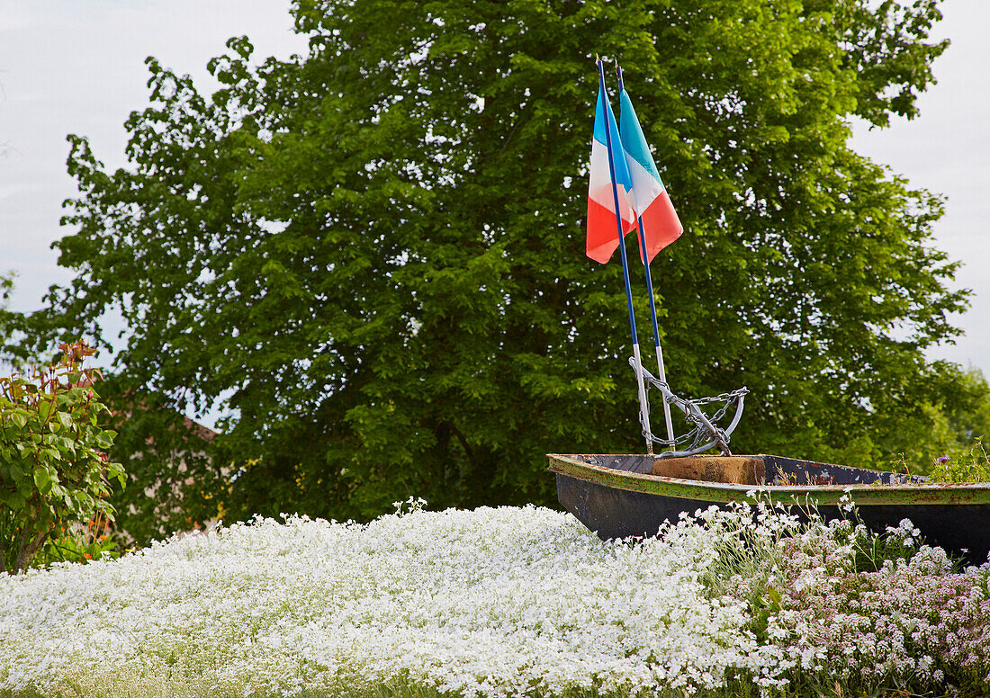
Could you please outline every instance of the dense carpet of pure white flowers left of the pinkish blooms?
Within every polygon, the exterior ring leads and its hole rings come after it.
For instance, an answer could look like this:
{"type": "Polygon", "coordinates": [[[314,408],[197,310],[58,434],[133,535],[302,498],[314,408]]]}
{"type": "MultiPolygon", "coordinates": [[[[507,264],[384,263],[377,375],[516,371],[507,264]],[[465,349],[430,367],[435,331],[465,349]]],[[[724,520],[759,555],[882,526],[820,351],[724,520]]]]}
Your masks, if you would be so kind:
{"type": "Polygon", "coordinates": [[[0,688],[178,677],[291,696],[400,680],[515,696],[716,688],[727,669],[774,684],[781,650],[743,631],[743,601],[705,593],[719,535],[681,522],[602,543],[534,507],[257,520],[0,575],[0,688]]]}

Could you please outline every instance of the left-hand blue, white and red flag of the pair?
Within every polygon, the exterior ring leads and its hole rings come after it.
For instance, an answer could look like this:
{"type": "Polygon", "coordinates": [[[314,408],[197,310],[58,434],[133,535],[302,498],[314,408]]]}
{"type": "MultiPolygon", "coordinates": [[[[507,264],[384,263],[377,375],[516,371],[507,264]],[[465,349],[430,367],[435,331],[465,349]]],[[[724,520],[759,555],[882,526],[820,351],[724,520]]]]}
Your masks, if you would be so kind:
{"type": "Polygon", "coordinates": [[[626,157],[622,154],[619,127],[609,105],[608,96],[598,87],[598,106],[595,108],[595,137],[591,142],[591,173],[588,180],[588,238],[585,253],[604,264],[619,247],[619,230],[616,221],[616,199],[622,217],[623,235],[636,230],[636,213],[629,201],[633,189],[626,157]],[[608,136],[606,135],[608,134],[608,136]],[[609,140],[616,156],[609,164],[609,140]],[[612,170],[615,170],[616,191],[612,188],[612,170]],[[617,196],[618,194],[618,196],[617,196]]]}

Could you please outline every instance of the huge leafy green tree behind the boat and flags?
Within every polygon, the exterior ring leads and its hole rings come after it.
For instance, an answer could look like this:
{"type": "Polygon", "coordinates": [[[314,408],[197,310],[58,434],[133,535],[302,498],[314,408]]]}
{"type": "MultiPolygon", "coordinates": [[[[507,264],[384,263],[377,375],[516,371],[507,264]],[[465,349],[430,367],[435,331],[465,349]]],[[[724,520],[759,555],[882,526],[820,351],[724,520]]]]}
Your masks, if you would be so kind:
{"type": "Polygon", "coordinates": [[[935,0],[293,12],[308,53],[254,65],[231,40],[210,96],[148,59],[127,168],[70,137],[76,276],[33,319],[109,344],[119,312],[119,395],[230,410],[204,495],[228,518],[549,503],[545,452],[643,448],[621,270],[583,255],[595,52],[687,228],[653,265],[674,388],[746,384],[737,449],[851,463],[942,405],[923,350],[965,293],[940,200],[847,144],[853,117],[915,114],[935,0]]]}

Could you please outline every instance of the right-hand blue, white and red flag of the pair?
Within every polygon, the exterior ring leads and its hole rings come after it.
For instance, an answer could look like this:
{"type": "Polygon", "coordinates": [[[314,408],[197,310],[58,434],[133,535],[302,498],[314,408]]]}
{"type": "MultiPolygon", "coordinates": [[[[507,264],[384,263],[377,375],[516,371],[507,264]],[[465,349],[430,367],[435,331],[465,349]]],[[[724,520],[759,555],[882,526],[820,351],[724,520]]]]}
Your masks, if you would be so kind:
{"type": "MultiPolygon", "coordinates": [[[[637,212],[643,218],[647,254],[645,263],[649,263],[657,252],[680,238],[684,227],[677,218],[674,205],[670,202],[670,195],[667,194],[660,174],[656,171],[656,165],[653,164],[643,129],[640,128],[640,120],[636,118],[633,102],[630,101],[629,93],[625,89],[619,96],[619,118],[622,121],[619,138],[622,150],[626,152],[626,162],[633,182],[632,198],[637,212]]],[[[615,143],[614,138],[612,143],[615,143]]],[[[641,258],[642,247],[641,243],[641,258]]]]}

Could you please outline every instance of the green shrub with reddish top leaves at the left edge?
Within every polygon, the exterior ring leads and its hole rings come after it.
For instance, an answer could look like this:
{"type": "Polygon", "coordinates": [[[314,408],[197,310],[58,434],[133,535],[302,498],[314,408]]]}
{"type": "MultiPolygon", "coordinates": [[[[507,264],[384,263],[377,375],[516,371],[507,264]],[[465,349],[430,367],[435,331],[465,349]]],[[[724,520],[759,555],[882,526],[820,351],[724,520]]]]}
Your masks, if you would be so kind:
{"type": "MultiPolygon", "coordinates": [[[[81,341],[59,349],[57,365],[0,378],[0,571],[26,569],[47,543],[112,521],[108,478],[123,484],[123,468],[105,453],[116,434],[100,425],[109,410],[93,387],[99,371],[82,367],[95,351],[81,341]]],[[[74,558],[79,546],[62,548],[74,558]]]]}

